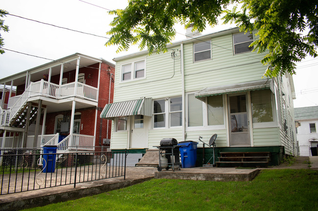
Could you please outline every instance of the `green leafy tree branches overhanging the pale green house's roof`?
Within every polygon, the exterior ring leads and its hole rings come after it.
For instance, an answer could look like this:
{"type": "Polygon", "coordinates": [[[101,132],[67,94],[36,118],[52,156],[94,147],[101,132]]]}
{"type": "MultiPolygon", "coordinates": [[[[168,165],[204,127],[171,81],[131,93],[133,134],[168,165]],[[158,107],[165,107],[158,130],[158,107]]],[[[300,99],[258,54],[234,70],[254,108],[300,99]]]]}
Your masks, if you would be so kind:
{"type": "Polygon", "coordinates": [[[225,14],[225,23],[257,32],[259,38],[251,46],[257,53],[268,52],[262,59],[268,65],[265,76],[295,74],[295,62],[307,54],[318,56],[317,0],[129,0],[125,9],[109,13],[116,17],[106,45],[119,45],[117,51],[134,44],[149,53],[166,51],[176,35],[176,23],[185,27],[193,23],[193,29],[202,32],[225,14]]]}

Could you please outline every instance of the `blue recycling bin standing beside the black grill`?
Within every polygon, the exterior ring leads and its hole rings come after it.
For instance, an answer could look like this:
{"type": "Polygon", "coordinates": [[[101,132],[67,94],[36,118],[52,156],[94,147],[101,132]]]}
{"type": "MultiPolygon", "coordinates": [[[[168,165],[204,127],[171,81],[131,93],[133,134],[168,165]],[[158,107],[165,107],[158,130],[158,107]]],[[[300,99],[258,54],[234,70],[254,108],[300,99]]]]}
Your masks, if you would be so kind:
{"type": "Polygon", "coordinates": [[[179,151],[182,168],[195,167],[195,162],[197,160],[197,145],[198,142],[195,141],[179,142],[178,146],[180,146],[179,151]]]}

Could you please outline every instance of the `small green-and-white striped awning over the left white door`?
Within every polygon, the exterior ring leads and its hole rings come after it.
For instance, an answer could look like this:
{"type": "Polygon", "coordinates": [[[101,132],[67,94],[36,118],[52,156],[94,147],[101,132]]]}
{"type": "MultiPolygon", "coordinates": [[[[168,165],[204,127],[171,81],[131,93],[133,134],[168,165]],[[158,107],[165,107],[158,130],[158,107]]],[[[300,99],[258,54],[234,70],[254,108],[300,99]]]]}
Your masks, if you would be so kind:
{"type": "Polygon", "coordinates": [[[152,98],[141,98],[136,100],[115,102],[105,106],[101,118],[114,119],[117,116],[130,116],[130,115],[152,115],[151,107],[152,98]]]}

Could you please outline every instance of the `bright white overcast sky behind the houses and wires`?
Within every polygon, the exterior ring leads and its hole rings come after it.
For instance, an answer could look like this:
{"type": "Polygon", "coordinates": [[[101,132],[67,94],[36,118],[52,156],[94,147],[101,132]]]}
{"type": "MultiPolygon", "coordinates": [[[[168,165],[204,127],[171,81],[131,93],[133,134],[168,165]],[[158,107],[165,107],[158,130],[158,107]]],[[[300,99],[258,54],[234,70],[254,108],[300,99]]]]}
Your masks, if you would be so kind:
{"type": "MultiPolygon", "coordinates": [[[[110,16],[106,9],[123,9],[127,0],[0,0],[0,9],[10,14],[33,19],[60,27],[86,32],[102,37],[109,37],[106,32],[111,29],[110,16]],[[103,7],[103,8],[101,8],[103,7]],[[104,9],[106,8],[106,9],[104,9]]],[[[57,28],[8,15],[4,18],[9,32],[1,31],[4,48],[49,59],[63,58],[74,53],[81,53],[96,58],[112,61],[113,58],[135,53],[137,46],[128,52],[116,54],[116,46],[106,47],[107,38],[100,38],[78,32],[57,28]]],[[[229,25],[208,28],[203,34],[227,29],[229,25]]],[[[184,34],[182,26],[177,32],[184,34]]],[[[177,34],[176,41],[185,36],[177,34]]],[[[5,51],[0,55],[0,78],[25,71],[50,62],[43,58],[31,57],[16,52],[5,51]]],[[[318,58],[307,58],[298,65],[293,76],[296,100],[294,107],[318,105],[318,58]]]]}

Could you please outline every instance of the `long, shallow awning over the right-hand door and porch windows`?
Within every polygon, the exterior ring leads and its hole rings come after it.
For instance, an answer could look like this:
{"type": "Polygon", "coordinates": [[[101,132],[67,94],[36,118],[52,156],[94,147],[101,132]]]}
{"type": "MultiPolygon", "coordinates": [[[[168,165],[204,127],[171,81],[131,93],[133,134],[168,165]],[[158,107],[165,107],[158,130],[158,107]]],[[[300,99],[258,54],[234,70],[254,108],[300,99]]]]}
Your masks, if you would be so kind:
{"type": "Polygon", "coordinates": [[[261,90],[261,89],[271,89],[274,93],[274,83],[273,79],[263,79],[263,80],[255,80],[243,83],[235,83],[230,85],[223,86],[215,86],[205,88],[194,96],[198,99],[204,100],[205,96],[215,96],[215,95],[223,95],[223,94],[234,94],[240,92],[248,92],[253,90],[261,90]]]}

